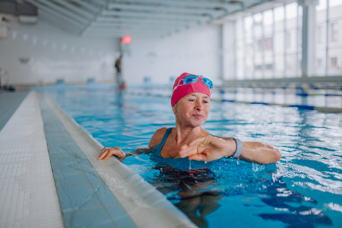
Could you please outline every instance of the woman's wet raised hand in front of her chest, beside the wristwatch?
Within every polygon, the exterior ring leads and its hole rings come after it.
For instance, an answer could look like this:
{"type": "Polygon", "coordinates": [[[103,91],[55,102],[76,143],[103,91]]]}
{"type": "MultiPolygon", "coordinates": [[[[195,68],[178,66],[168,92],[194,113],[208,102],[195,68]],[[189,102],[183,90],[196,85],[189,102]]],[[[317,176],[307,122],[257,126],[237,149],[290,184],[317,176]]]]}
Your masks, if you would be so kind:
{"type": "Polygon", "coordinates": [[[232,156],[236,151],[234,140],[226,141],[211,135],[194,139],[189,144],[183,145],[179,151],[181,158],[189,157],[189,160],[214,161],[225,156],[232,156]]]}

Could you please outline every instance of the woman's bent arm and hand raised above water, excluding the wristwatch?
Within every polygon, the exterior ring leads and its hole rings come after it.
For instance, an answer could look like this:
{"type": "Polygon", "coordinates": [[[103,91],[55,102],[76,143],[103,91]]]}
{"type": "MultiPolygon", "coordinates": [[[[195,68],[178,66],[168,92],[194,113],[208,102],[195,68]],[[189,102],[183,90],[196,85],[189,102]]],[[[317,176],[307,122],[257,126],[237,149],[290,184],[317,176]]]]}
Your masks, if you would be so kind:
{"type": "MultiPolygon", "coordinates": [[[[179,152],[181,158],[189,157],[189,160],[214,161],[223,157],[231,157],[236,151],[234,139],[211,135],[196,138],[189,144],[183,145],[179,152]]],[[[239,159],[259,164],[276,163],[281,158],[279,150],[272,145],[259,142],[242,142],[242,151],[239,159]]]]}

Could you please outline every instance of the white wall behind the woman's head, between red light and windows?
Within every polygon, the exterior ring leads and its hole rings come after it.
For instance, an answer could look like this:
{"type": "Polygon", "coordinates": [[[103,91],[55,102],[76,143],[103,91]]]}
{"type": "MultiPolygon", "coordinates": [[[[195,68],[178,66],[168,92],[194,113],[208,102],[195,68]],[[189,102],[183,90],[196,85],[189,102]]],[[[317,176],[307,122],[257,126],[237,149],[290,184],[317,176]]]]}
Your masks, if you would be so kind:
{"type": "Polygon", "coordinates": [[[124,55],[123,75],[128,83],[169,83],[184,72],[203,75],[213,82],[221,77],[220,27],[202,25],[165,38],[132,37],[131,54],[124,55]]]}

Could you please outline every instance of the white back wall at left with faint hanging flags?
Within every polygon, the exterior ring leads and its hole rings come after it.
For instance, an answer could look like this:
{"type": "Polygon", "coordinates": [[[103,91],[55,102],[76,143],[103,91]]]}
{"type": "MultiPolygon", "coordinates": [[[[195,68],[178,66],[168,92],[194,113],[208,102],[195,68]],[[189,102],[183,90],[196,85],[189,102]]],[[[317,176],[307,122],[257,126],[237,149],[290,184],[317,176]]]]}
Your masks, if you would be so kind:
{"type": "Polygon", "coordinates": [[[11,84],[34,84],[40,79],[114,80],[117,39],[73,36],[43,21],[36,25],[12,22],[11,28],[13,37],[0,40],[0,67],[9,72],[11,84]],[[29,57],[30,62],[19,63],[22,57],[29,57]]]}

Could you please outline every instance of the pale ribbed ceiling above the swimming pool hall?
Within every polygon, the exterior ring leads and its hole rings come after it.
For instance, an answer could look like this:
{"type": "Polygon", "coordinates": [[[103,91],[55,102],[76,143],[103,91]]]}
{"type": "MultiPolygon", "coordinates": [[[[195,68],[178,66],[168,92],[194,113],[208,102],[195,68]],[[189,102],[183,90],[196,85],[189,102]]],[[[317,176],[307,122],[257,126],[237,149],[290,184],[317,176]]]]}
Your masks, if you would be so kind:
{"type": "Polygon", "coordinates": [[[39,19],[79,36],[167,36],[263,0],[25,0],[39,19]]]}

